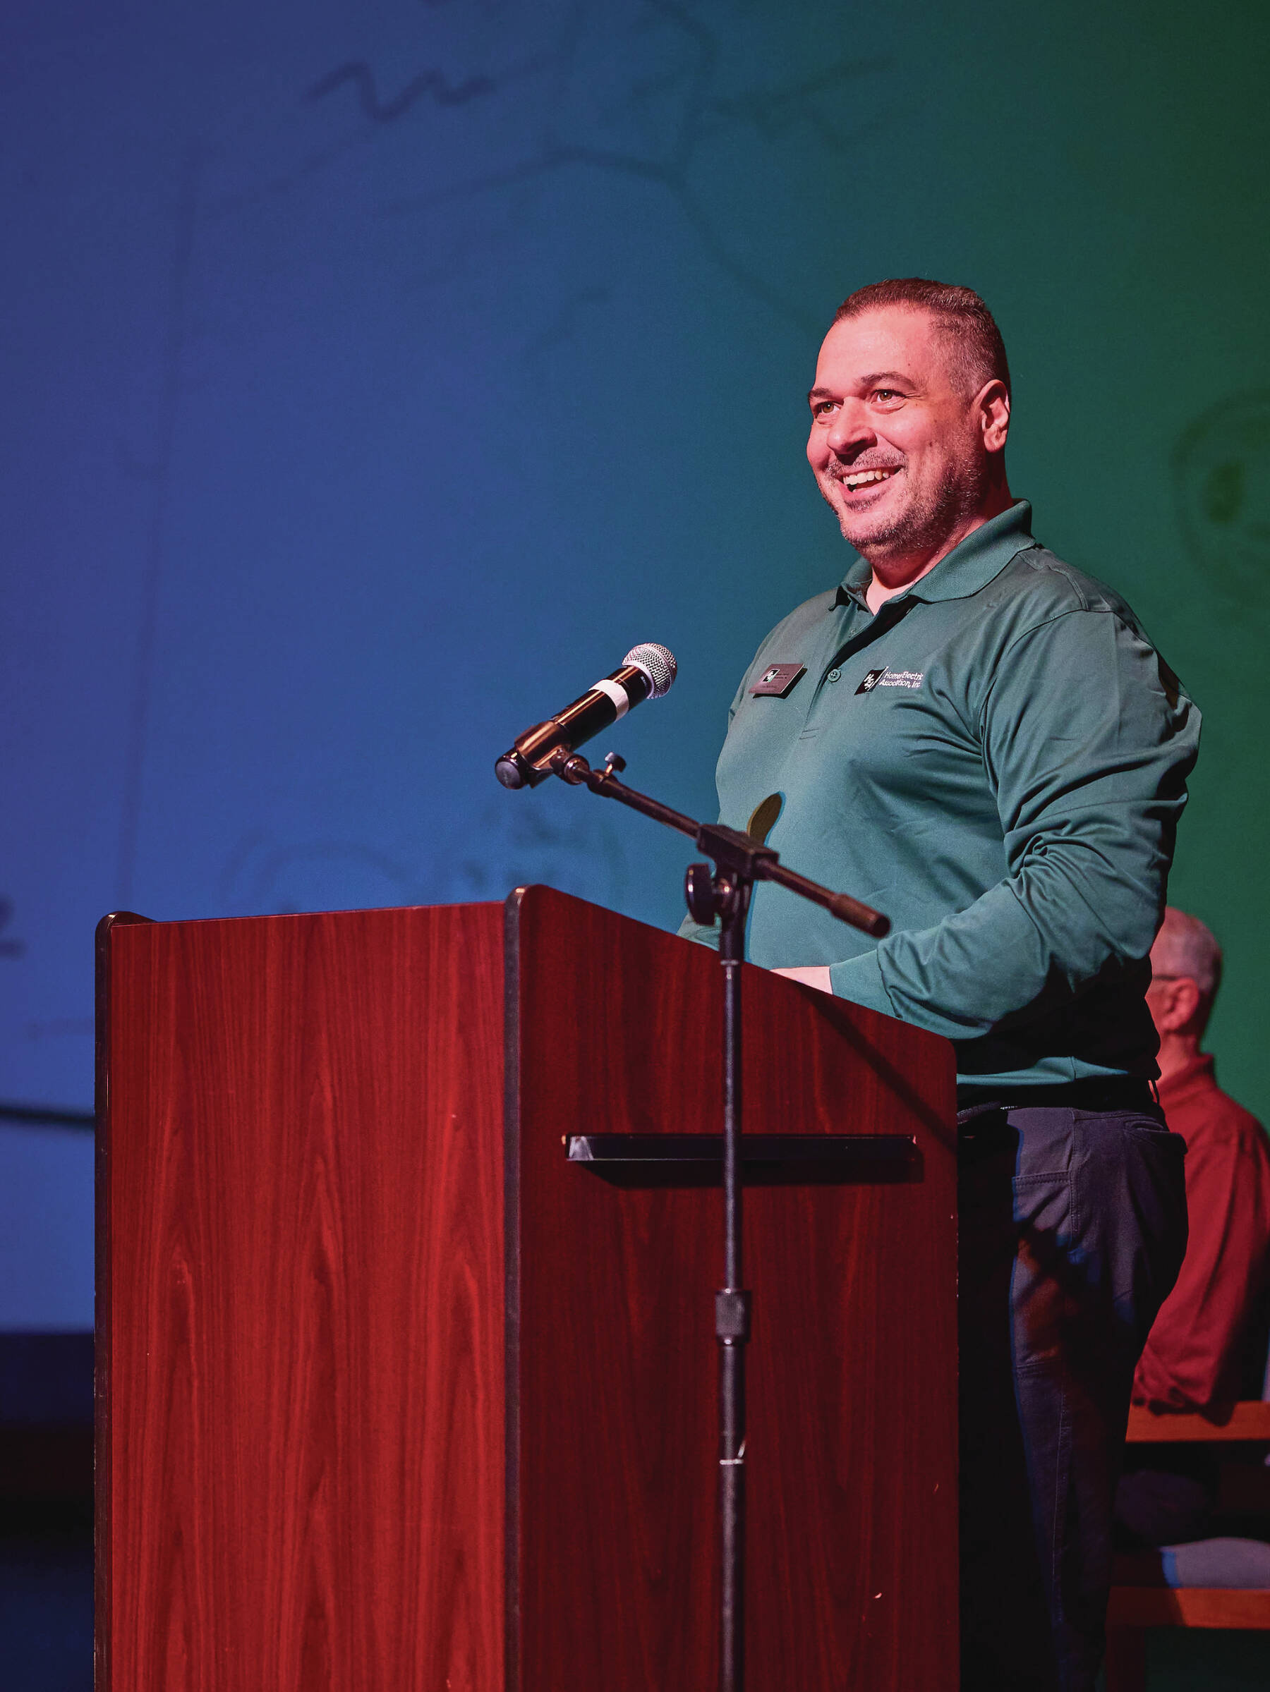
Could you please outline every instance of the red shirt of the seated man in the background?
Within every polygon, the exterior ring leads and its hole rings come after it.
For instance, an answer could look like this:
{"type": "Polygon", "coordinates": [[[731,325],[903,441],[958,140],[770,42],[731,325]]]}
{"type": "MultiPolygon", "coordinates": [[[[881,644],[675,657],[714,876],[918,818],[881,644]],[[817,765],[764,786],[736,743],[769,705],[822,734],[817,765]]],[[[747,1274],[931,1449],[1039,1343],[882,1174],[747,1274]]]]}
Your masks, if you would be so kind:
{"type": "Polygon", "coordinates": [[[1160,1105],[1187,1142],[1190,1239],[1133,1377],[1133,1403],[1207,1409],[1240,1396],[1243,1343],[1270,1272],[1270,1142],[1221,1091],[1207,1056],[1160,1083],[1160,1105]]]}

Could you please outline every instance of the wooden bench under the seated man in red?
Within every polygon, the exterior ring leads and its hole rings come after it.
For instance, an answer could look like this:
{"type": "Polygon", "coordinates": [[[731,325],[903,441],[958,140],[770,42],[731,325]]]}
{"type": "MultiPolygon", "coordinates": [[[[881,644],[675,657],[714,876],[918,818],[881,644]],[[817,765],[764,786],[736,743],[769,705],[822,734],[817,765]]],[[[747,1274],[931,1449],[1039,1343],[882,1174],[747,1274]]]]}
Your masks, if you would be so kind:
{"type": "MultiPolygon", "coordinates": [[[[1223,1421],[1199,1415],[1129,1411],[1129,1445],[1270,1445],[1270,1403],[1234,1404],[1223,1421]]],[[[1218,1508],[1270,1508],[1270,1470],[1255,1475],[1262,1497],[1234,1497],[1223,1487],[1218,1508]]],[[[1116,1577],[1129,1577],[1123,1558],[1116,1577]]],[[[1119,1584],[1107,1604],[1107,1692],[1145,1692],[1148,1628],[1238,1628],[1270,1631],[1270,1590],[1119,1584]]]]}

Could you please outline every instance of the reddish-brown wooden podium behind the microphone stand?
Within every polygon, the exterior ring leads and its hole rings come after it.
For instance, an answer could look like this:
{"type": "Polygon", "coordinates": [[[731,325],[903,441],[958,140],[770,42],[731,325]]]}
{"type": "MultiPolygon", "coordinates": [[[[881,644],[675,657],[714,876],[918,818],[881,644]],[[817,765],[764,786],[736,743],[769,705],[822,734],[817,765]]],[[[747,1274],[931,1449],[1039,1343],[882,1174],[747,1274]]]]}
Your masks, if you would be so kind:
{"type": "MultiPolygon", "coordinates": [[[[713,954],[535,887],[98,973],[98,1692],[710,1692],[713,954]]],[[[745,1030],[748,1685],[953,1692],[952,1047],[745,1030]]]]}

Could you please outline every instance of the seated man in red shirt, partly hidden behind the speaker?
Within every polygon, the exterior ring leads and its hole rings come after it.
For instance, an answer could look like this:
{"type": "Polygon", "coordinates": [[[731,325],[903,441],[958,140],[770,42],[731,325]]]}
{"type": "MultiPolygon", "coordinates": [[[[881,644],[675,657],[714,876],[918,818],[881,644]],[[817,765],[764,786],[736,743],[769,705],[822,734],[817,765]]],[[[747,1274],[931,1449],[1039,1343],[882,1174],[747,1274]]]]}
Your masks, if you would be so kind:
{"type": "MultiPolygon", "coordinates": [[[[1256,1117],[1223,1093],[1201,1051],[1219,980],[1221,948],[1209,929],[1170,907],[1151,948],[1146,1003],[1160,1034],[1160,1105],[1187,1144],[1190,1237],[1133,1379],[1135,1404],[1160,1413],[1219,1415],[1265,1387],[1270,1142],[1256,1117]]],[[[1212,1455],[1140,1447],[1131,1465],[1116,1497],[1126,1536],[1140,1545],[1202,1538],[1212,1455]]]]}

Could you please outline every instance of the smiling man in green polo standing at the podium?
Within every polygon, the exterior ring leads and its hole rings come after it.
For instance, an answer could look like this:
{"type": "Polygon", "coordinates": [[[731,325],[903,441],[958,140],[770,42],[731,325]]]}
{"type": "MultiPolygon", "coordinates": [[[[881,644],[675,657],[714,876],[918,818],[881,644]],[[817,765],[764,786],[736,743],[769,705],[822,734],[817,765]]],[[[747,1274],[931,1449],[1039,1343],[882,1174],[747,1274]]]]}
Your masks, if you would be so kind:
{"type": "Polygon", "coordinates": [[[1033,538],[977,294],[862,288],[808,398],[859,557],[747,670],[721,821],[779,800],[769,844],[892,932],[764,882],[750,958],[955,1042],[962,1685],[1092,1692],[1133,1369],[1185,1247],[1145,992],[1199,712],[1033,538]]]}

